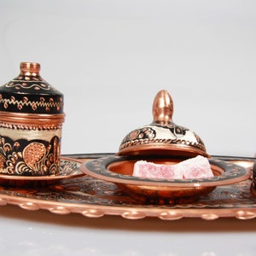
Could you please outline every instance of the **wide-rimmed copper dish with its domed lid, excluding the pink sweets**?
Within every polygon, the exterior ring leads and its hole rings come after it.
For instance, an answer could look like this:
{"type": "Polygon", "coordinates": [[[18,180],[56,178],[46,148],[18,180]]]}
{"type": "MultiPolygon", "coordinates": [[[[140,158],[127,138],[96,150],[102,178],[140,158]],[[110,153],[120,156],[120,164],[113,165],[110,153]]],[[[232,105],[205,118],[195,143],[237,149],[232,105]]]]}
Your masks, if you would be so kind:
{"type": "Polygon", "coordinates": [[[153,204],[180,204],[196,201],[217,186],[237,183],[250,177],[242,166],[211,160],[201,138],[172,121],[173,102],[166,90],[160,90],[153,104],[154,121],[131,131],[110,158],[92,160],[81,166],[84,174],[115,183],[137,201],[153,204]],[[210,161],[214,177],[200,179],[149,179],[132,175],[137,160],[174,165],[203,155],[210,161]]]}

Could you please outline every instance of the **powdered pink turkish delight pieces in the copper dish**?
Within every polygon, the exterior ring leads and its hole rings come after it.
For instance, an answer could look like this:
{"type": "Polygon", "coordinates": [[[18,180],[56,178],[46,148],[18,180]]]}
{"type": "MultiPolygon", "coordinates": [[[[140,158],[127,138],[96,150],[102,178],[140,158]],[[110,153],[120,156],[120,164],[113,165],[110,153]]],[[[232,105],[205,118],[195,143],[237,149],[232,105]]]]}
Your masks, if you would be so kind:
{"type": "Polygon", "coordinates": [[[195,158],[183,160],[173,166],[139,160],[134,164],[133,176],[182,179],[213,177],[213,173],[207,157],[198,155],[195,158]]]}

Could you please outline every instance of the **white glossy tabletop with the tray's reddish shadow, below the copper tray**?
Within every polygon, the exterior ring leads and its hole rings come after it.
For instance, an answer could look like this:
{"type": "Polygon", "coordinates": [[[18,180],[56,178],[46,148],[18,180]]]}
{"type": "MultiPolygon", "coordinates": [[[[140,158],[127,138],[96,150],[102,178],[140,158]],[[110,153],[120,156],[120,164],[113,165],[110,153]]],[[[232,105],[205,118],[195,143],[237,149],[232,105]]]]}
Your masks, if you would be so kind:
{"type": "Polygon", "coordinates": [[[5,255],[254,255],[256,219],[127,220],[0,207],[5,255]]]}

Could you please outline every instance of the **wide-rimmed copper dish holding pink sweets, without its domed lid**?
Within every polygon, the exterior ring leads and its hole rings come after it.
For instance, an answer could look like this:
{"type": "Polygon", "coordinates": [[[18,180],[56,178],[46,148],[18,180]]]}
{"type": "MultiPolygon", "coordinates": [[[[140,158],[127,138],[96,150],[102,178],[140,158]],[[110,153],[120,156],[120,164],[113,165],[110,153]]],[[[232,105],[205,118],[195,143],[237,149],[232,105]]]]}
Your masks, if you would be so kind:
{"type": "MultiPolygon", "coordinates": [[[[120,189],[137,201],[150,204],[181,204],[198,200],[217,186],[241,182],[251,176],[250,170],[231,162],[209,160],[214,177],[164,179],[145,178],[132,175],[137,157],[110,156],[90,160],[81,166],[84,174],[107,182],[116,183],[120,189]]],[[[175,165],[180,160],[172,158],[147,158],[157,164],[175,165]]]]}

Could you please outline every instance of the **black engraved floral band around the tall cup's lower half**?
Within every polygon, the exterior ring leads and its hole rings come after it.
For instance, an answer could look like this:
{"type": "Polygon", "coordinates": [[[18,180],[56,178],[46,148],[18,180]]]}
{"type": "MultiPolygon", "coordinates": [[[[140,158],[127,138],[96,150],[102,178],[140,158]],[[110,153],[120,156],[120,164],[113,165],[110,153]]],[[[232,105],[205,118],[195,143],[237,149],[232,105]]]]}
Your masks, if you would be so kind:
{"type": "Polygon", "coordinates": [[[60,140],[50,143],[0,137],[0,173],[8,175],[56,175],[60,166],[60,140]]]}

